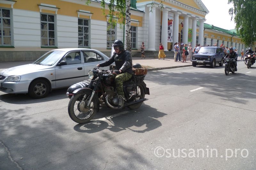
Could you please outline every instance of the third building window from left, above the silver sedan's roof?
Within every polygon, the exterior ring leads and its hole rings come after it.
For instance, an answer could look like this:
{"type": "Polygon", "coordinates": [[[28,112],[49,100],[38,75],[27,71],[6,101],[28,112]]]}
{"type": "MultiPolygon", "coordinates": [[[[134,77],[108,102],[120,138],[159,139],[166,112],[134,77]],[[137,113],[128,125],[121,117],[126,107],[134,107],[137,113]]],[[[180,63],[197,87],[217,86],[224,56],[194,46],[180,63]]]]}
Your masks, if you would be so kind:
{"type": "Polygon", "coordinates": [[[89,20],[78,18],[78,46],[89,47],[89,20]]]}

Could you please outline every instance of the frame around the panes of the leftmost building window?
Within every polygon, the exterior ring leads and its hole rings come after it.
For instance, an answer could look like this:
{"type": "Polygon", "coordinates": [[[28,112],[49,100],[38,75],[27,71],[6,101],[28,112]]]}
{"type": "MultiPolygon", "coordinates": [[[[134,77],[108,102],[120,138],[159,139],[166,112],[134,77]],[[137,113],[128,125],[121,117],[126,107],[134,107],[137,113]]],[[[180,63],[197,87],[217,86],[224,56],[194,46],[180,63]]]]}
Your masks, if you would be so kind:
{"type": "MultiPolygon", "coordinates": [[[[13,42],[14,42],[14,40],[13,40],[13,13],[12,13],[12,9],[10,9],[10,8],[2,8],[2,7],[0,7],[0,9],[1,9],[1,17],[0,17],[0,19],[1,19],[1,24],[0,24],[0,31],[1,31],[1,44],[0,44],[0,47],[14,47],[13,46],[13,42]],[[2,10],[9,10],[10,11],[10,18],[8,18],[8,17],[3,17],[2,16],[2,10]],[[5,19],[5,18],[8,18],[8,19],[10,19],[10,36],[5,36],[4,35],[4,32],[2,32],[2,31],[4,31],[3,30],[3,18],[5,19]],[[7,44],[7,45],[5,45],[4,44],[4,37],[10,37],[10,39],[11,39],[11,44],[7,44]],[[3,42],[3,43],[2,43],[3,42]]],[[[8,28],[8,27],[6,27],[6,28],[8,28]]]]}

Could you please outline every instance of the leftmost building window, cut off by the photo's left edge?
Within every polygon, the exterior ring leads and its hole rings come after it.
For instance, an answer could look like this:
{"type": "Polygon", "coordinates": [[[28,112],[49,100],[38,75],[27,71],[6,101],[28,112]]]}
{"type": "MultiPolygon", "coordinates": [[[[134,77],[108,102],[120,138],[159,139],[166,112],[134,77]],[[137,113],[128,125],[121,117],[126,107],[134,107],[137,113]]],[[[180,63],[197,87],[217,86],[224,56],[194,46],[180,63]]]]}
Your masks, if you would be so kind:
{"type": "Polygon", "coordinates": [[[0,45],[12,45],[11,10],[0,8],[0,45]]]}

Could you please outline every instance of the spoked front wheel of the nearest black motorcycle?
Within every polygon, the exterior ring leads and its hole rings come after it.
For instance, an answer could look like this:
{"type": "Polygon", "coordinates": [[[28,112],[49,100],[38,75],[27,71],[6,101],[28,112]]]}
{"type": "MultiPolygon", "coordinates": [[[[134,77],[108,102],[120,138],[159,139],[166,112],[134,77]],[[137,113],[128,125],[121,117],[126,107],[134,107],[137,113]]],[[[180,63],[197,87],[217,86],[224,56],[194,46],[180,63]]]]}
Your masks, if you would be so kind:
{"type": "Polygon", "coordinates": [[[75,94],[71,97],[68,103],[68,114],[74,122],[79,124],[87,123],[97,113],[97,101],[95,97],[93,97],[90,106],[87,107],[91,96],[92,92],[88,91],[75,94]]]}

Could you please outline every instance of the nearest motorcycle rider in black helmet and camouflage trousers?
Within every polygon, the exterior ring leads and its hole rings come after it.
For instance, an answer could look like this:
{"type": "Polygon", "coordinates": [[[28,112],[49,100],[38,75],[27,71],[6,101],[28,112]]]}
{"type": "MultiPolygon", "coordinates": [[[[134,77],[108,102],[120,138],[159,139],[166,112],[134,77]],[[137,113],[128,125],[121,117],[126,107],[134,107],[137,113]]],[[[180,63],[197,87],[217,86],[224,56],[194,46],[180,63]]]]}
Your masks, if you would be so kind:
{"type": "Polygon", "coordinates": [[[112,57],[98,64],[97,67],[106,67],[115,62],[117,70],[114,70],[113,73],[116,74],[115,83],[118,94],[118,109],[121,109],[124,106],[123,82],[132,78],[132,56],[129,51],[124,49],[124,44],[121,40],[116,40],[113,46],[115,53],[112,57]]]}

